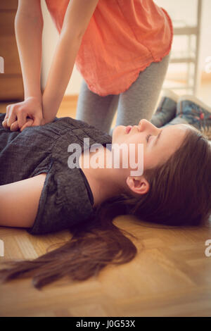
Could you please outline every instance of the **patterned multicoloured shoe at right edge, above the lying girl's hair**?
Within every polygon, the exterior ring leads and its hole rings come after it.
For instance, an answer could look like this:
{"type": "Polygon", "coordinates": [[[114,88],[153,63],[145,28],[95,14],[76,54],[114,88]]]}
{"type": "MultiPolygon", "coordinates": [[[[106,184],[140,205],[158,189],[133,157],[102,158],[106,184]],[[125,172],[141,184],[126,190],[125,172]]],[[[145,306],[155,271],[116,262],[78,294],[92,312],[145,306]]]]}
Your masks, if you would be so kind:
{"type": "Polygon", "coordinates": [[[211,108],[192,95],[179,97],[177,117],[196,127],[208,139],[211,139],[211,108]]]}

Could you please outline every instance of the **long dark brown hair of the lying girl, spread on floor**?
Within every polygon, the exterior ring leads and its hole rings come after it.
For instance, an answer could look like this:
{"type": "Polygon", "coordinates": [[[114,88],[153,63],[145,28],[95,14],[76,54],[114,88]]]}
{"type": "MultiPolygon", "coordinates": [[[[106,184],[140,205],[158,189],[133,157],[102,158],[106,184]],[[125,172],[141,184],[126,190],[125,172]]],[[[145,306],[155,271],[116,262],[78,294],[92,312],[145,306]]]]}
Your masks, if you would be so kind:
{"type": "MultiPolygon", "coordinates": [[[[0,280],[32,277],[40,289],[69,276],[87,280],[108,264],[136,256],[134,237],[113,224],[120,215],[163,225],[203,225],[211,213],[211,146],[198,130],[187,130],[179,149],[162,165],[144,171],[150,189],[139,197],[124,192],[95,209],[90,220],[71,227],[72,238],[30,261],[6,261],[0,280]]],[[[134,237],[136,238],[136,237],[134,237]]]]}

